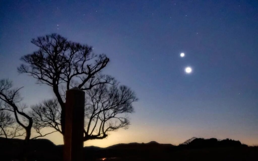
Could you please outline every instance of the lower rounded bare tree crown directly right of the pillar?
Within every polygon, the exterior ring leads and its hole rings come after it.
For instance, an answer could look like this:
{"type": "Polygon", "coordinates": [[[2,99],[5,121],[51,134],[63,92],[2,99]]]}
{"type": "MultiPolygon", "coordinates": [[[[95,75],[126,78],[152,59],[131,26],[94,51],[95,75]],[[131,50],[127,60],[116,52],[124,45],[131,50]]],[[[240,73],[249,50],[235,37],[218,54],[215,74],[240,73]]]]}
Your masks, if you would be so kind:
{"type": "Polygon", "coordinates": [[[127,128],[132,113],[132,103],[137,101],[135,93],[126,86],[100,84],[86,91],[85,140],[102,139],[108,131],[127,128]]]}

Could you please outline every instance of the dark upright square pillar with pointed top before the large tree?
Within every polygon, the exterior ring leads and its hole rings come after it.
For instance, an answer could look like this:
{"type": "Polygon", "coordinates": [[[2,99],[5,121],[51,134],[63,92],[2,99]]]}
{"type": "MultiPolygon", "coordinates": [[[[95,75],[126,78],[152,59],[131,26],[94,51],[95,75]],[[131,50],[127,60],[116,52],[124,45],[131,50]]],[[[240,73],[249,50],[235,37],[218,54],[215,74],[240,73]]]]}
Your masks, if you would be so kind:
{"type": "Polygon", "coordinates": [[[66,91],[64,161],[82,161],[85,92],[79,88],[66,91]]]}

